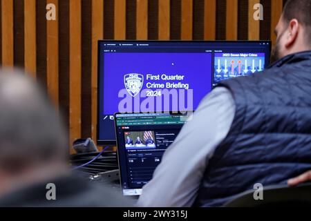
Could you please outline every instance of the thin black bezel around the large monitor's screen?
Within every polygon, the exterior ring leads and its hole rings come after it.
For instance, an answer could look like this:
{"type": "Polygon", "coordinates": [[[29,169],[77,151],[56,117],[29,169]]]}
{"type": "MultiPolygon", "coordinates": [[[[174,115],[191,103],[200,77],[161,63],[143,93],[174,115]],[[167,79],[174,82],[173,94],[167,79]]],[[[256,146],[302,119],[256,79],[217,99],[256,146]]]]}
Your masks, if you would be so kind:
{"type": "MultiPolygon", "coordinates": [[[[146,42],[160,42],[160,43],[169,43],[169,42],[182,42],[182,43],[217,43],[217,42],[227,42],[227,43],[234,43],[234,42],[239,42],[239,43],[269,43],[269,56],[271,56],[271,49],[272,49],[272,41],[271,40],[259,40],[259,41],[245,41],[245,40],[238,40],[238,41],[225,41],[225,40],[215,40],[215,41],[204,41],[204,40],[192,40],[192,41],[183,41],[183,40],[106,40],[106,39],[102,39],[102,40],[98,40],[97,41],[97,115],[96,115],[96,141],[97,141],[97,145],[99,146],[116,146],[117,142],[116,140],[100,140],[99,139],[99,117],[100,117],[100,93],[99,93],[99,89],[100,89],[100,65],[99,65],[99,61],[100,61],[100,44],[104,44],[104,42],[108,42],[108,43],[112,43],[112,42],[142,42],[142,43],[146,43],[146,42]]],[[[214,64],[214,61],[212,61],[212,64],[214,64]]],[[[267,66],[269,66],[269,64],[267,64],[267,66]]],[[[211,75],[211,88],[213,87],[213,81],[214,77],[213,75],[211,75]]],[[[115,117],[115,114],[113,115],[115,117]]],[[[115,129],[115,128],[114,128],[115,129]]]]}

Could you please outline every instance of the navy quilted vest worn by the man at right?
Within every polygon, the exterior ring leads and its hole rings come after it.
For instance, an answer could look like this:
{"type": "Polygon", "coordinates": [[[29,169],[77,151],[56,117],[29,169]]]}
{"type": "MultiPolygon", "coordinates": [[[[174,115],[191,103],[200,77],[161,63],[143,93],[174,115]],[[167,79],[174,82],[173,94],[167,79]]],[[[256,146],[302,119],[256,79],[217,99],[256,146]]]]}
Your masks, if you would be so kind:
{"type": "Polygon", "coordinates": [[[311,51],[219,86],[232,93],[236,113],[194,206],[221,206],[256,183],[285,184],[311,169],[311,51]]]}

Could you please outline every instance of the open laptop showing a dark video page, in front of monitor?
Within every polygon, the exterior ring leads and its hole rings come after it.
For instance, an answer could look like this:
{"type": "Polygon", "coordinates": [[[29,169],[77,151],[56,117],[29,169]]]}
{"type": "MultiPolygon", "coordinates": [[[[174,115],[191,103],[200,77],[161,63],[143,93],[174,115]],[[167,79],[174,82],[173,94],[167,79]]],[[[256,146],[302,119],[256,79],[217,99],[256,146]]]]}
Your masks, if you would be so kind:
{"type": "Polygon", "coordinates": [[[115,113],[123,195],[142,193],[142,186],[151,180],[164,151],[189,119],[189,113],[115,113]]]}

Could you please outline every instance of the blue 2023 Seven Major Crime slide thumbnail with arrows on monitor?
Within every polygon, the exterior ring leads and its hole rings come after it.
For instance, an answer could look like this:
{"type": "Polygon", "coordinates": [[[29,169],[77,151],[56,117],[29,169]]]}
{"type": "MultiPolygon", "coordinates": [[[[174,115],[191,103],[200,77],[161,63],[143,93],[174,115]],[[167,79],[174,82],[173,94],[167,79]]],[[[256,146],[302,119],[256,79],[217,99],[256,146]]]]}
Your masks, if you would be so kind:
{"type": "Polygon", "coordinates": [[[261,72],[265,66],[265,53],[216,53],[214,84],[232,77],[261,72]]]}

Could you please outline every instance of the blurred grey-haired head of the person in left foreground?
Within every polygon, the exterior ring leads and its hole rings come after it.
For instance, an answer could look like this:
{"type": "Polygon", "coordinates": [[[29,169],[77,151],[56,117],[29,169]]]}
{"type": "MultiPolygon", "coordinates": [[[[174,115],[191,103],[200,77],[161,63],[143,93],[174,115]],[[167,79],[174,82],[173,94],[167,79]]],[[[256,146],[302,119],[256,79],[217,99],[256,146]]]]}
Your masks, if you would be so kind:
{"type": "Polygon", "coordinates": [[[30,180],[47,168],[48,175],[54,166],[66,164],[64,132],[32,79],[16,70],[0,70],[0,192],[10,180],[30,180]]]}

